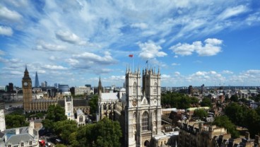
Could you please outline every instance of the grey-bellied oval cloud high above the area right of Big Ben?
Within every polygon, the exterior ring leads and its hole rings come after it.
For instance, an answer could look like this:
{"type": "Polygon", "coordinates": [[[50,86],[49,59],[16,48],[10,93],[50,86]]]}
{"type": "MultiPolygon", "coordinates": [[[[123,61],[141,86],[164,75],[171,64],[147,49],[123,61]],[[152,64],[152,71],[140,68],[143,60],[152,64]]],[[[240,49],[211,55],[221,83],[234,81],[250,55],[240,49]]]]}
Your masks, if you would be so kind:
{"type": "Polygon", "coordinates": [[[57,31],[56,37],[64,42],[69,42],[74,45],[86,45],[87,42],[81,40],[80,37],[75,35],[74,33],[70,33],[69,31],[57,31]]]}

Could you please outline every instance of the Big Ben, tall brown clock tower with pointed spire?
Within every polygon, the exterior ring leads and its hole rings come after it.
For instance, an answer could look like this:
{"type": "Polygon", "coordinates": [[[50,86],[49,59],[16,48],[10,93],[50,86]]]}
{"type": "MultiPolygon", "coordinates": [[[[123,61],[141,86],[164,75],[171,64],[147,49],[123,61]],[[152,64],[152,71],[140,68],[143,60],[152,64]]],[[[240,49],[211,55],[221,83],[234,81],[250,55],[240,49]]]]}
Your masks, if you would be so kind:
{"type": "Polygon", "coordinates": [[[22,85],[23,85],[23,110],[25,112],[30,112],[31,102],[32,102],[32,80],[30,79],[27,66],[25,66],[22,85]]]}

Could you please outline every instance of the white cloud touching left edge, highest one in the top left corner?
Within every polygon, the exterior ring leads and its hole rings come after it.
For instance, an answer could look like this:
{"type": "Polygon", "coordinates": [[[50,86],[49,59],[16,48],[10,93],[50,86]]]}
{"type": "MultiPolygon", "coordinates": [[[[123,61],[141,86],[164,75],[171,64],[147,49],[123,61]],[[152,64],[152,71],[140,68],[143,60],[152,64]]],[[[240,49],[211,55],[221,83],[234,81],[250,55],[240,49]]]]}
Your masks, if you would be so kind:
{"type": "Polygon", "coordinates": [[[0,5],[0,21],[7,20],[10,22],[17,22],[21,18],[23,18],[23,16],[21,16],[20,13],[17,13],[16,11],[11,11],[5,6],[0,5]]]}

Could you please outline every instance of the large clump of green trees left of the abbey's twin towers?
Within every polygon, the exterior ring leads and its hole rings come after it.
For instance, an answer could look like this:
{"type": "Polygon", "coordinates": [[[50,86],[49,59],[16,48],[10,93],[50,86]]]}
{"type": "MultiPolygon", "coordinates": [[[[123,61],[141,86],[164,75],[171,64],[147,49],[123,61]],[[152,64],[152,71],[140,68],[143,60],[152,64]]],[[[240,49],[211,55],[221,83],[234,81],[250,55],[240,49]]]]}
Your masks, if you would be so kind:
{"type": "Polygon", "coordinates": [[[119,122],[102,119],[96,124],[77,127],[73,120],[66,119],[65,110],[59,105],[48,107],[43,126],[59,136],[69,146],[120,146],[122,137],[119,122]]]}

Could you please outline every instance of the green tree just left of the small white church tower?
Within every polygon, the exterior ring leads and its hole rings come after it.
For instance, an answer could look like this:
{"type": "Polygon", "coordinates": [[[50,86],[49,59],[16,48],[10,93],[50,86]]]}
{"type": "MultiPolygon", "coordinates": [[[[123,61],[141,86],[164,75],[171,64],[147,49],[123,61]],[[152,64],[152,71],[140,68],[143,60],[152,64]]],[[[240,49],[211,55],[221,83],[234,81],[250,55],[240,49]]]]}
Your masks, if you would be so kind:
{"type": "Polygon", "coordinates": [[[50,131],[54,129],[54,122],[66,120],[65,110],[60,105],[49,105],[43,126],[50,131]]]}

